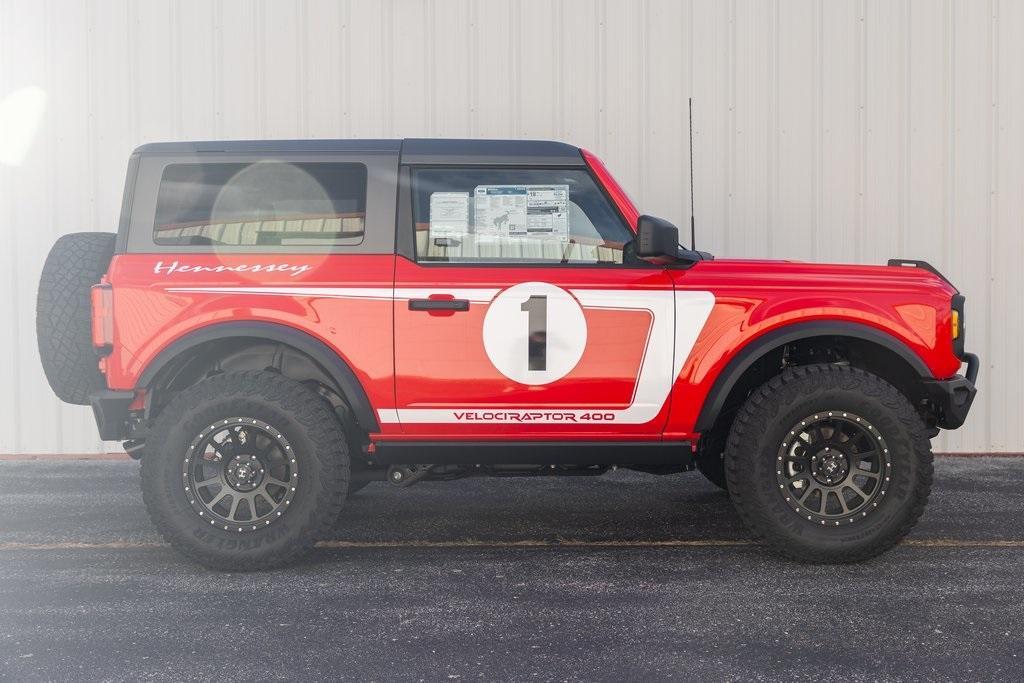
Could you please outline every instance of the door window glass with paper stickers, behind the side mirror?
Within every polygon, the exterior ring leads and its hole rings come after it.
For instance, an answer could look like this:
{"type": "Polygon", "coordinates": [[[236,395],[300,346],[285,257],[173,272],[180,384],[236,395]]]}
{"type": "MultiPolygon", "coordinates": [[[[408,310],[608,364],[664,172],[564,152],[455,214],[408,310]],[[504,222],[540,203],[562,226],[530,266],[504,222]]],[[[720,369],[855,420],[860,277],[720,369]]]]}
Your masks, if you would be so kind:
{"type": "Polygon", "coordinates": [[[621,264],[632,231],[582,169],[413,171],[418,261],[621,264]]]}

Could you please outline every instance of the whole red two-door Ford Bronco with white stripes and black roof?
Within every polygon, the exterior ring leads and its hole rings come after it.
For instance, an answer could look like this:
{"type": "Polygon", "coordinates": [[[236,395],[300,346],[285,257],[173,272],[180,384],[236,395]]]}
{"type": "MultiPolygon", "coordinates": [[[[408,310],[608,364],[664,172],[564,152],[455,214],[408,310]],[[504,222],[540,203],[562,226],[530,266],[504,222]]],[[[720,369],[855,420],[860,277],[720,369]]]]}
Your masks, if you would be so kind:
{"type": "Polygon", "coordinates": [[[929,264],[715,259],[544,141],[143,145],[117,234],[50,252],[38,335],[160,531],[236,569],[374,479],[616,466],[696,468],[779,553],[864,559],[978,373],[929,264]]]}

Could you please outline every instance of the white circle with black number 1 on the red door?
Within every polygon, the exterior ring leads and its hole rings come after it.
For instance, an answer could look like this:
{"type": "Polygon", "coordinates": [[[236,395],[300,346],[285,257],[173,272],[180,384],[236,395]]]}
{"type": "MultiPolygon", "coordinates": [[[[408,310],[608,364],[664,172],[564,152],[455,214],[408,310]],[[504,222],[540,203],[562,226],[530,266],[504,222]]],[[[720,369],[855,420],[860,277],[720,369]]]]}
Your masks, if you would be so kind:
{"type": "Polygon", "coordinates": [[[587,318],[575,298],[548,283],[521,283],[490,302],[483,348],[495,368],[521,384],[550,384],[575,368],[587,318]]]}

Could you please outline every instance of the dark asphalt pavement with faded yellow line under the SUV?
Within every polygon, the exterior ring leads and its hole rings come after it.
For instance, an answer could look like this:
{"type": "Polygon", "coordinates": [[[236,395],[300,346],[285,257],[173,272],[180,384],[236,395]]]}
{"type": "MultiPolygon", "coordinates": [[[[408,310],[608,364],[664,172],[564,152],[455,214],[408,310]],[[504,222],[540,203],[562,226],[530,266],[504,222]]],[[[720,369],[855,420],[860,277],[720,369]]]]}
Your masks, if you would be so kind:
{"type": "Polygon", "coordinates": [[[1024,459],[941,458],[909,539],[852,566],[751,543],[698,474],[353,497],[264,573],[163,545],[133,462],[0,462],[0,678],[1024,678],[1024,459]]]}

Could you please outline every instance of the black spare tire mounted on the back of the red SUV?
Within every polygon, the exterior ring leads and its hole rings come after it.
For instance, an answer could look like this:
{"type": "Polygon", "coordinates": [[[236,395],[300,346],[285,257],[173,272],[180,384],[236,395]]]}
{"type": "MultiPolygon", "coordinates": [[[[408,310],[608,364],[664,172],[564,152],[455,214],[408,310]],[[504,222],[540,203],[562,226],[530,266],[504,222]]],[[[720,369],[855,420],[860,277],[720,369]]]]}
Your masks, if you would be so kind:
{"type": "Polygon", "coordinates": [[[53,393],[69,403],[87,404],[90,393],[106,388],[92,347],[89,288],[106,272],[116,237],[111,232],[63,236],[50,249],[39,278],[39,357],[53,393]]]}

